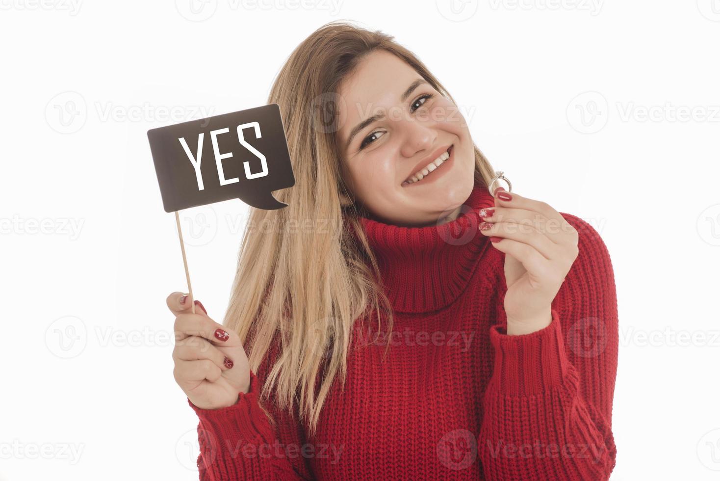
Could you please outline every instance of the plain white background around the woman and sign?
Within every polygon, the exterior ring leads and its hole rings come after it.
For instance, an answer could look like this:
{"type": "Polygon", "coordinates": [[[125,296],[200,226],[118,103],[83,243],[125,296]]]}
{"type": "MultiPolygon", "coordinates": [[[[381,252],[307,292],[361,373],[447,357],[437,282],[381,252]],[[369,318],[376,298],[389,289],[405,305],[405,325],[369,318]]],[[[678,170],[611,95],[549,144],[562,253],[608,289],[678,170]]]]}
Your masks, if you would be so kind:
{"type": "MultiPolygon", "coordinates": [[[[197,479],[165,306],[184,272],[145,132],[265,104],[336,19],[417,53],[513,191],[605,240],[611,479],[717,479],[720,1],[258,1],[0,0],[0,480],[197,479]]],[[[222,319],[246,207],[182,215],[222,319]]]]}

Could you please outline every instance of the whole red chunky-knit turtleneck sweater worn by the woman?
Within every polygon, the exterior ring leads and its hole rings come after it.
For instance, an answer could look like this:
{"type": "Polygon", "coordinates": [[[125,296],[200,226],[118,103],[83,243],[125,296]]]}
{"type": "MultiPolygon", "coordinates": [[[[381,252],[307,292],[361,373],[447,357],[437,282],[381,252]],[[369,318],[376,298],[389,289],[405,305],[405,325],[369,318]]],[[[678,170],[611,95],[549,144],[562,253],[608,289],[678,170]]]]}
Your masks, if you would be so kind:
{"type": "Polygon", "coordinates": [[[314,436],[266,406],[271,427],[258,406],[262,374],[229,408],[188,400],[200,480],[608,479],[618,317],[603,240],[562,213],[580,233],[579,254],[552,323],[508,336],[505,254],[477,230],[477,211],[494,199],[476,184],[465,204],[437,227],[363,220],[393,334],[356,323],[346,384],[334,383],[314,436]]]}

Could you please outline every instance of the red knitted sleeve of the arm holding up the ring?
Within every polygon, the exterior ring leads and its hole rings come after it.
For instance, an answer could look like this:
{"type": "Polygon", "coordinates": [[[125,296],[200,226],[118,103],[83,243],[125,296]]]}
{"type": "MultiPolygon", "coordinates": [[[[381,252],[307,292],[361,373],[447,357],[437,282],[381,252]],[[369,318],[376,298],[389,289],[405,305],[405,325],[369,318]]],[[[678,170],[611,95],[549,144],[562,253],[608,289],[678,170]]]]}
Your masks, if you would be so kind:
{"type": "Polygon", "coordinates": [[[615,467],[613,267],[600,235],[562,215],[579,233],[579,252],[552,302],[552,322],[508,336],[500,306],[503,325],[490,328],[494,366],[478,438],[487,480],[607,480],[615,467]]]}

